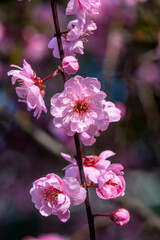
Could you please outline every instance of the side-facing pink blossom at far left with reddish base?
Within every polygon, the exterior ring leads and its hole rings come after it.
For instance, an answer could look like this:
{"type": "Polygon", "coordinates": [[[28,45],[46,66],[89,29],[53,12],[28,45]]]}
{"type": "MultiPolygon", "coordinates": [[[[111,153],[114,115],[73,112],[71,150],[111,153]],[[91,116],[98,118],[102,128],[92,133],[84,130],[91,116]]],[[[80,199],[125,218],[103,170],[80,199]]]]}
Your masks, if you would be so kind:
{"type": "Polygon", "coordinates": [[[36,77],[36,73],[25,60],[23,60],[23,68],[16,65],[11,65],[11,67],[17,68],[9,71],[8,75],[12,76],[13,85],[18,83],[16,93],[20,98],[19,102],[26,103],[28,111],[35,109],[34,116],[39,118],[42,111],[47,112],[43,100],[45,85],[39,77],[36,77]]]}

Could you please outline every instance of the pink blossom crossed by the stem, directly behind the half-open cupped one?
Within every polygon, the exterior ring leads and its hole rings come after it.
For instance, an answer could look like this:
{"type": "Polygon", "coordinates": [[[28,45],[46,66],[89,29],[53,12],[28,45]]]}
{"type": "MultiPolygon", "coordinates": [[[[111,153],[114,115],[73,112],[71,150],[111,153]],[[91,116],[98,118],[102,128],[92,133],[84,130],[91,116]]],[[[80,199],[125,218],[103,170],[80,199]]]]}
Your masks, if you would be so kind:
{"type": "MultiPolygon", "coordinates": [[[[65,177],[75,177],[78,179],[78,181],[80,181],[76,159],[71,158],[70,155],[65,153],[61,153],[61,155],[64,159],[71,162],[71,164],[69,164],[67,167],[63,169],[65,170],[65,177]]],[[[106,150],[103,151],[99,156],[95,155],[82,156],[83,169],[87,184],[90,184],[91,182],[97,183],[97,178],[99,177],[100,172],[108,168],[111,164],[110,161],[106,159],[114,155],[115,155],[114,152],[106,150]]]]}

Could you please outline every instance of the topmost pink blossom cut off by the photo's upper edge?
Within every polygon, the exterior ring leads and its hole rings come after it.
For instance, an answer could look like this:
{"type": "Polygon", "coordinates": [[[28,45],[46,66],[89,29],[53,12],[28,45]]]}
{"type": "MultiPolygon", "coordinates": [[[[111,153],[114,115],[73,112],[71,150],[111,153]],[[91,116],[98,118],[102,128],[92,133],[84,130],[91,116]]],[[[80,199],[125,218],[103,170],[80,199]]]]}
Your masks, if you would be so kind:
{"type": "Polygon", "coordinates": [[[78,18],[85,20],[86,13],[99,14],[100,0],[70,0],[66,15],[76,15],[78,18]]]}

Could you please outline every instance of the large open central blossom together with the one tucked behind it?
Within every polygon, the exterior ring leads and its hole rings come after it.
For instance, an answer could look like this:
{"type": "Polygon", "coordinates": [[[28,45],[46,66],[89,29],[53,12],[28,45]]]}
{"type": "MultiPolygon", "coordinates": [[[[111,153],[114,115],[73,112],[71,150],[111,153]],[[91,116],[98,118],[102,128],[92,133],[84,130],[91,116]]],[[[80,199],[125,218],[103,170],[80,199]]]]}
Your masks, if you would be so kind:
{"type": "Polygon", "coordinates": [[[85,145],[96,141],[99,130],[105,131],[110,122],[120,119],[120,111],[104,100],[106,94],[100,87],[96,78],[77,75],[65,83],[62,93],[51,98],[55,126],[64,128],[68,136],[80,133],[85,145]]]}

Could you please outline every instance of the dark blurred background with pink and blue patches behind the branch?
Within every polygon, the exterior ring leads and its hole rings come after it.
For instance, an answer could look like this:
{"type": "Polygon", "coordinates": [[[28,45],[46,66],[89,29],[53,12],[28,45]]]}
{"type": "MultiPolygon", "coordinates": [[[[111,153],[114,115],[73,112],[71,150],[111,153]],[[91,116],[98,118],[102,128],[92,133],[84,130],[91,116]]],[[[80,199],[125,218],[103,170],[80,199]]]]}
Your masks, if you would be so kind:
{"type": "MultiPolygon", "coordinates": [[[[60,152],[75,154],[72,138],[55,129],[50,98],[63,90],[63,80],[46,82],[48,113],[39,120],[18,103],[7,72],[10,64],[22,66],[25,58],[44,78],[59,65],[48,42],[54,36],[50,1],[0,1],[0,239],[57,233],[72,240],[87,240],[84,204],[71,208],[71,218],[61,223],[45,218],[31,202],[29,190],[37,178],[61,169],[67,162],[60,152]]],[[[68,1],[58,1],[61,30],[68,1]]],[[[100,200],[90,192],[94,213],[127,208],[131,220],[118,227],[109,219],[96,219],[98,240],[160,239],[160,0],[102,0],[100,14],[92,19],[97,30],[88,37],[85,54],[77,56],[79,75],[97,77],[107,100],[122,111],[122,119],[110,124],[83,155],[112,150],[112,163],[125,168],[126,195],[100,200]]],[[[52,238],[51,240],[54,240],[52,238]]],[[[47,240],[47,238],[46,238],[47,240]]]]}

